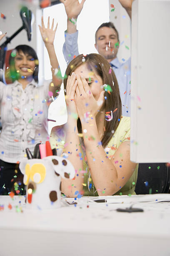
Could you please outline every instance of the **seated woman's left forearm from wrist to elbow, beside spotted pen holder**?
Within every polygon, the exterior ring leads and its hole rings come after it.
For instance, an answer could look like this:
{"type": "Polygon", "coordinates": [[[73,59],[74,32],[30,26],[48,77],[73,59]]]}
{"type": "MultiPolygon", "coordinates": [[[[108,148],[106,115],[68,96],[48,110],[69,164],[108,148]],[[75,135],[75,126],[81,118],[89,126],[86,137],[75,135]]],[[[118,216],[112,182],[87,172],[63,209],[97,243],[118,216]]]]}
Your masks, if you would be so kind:
{"type": "Polygon", "coordinates": [[[63,153],[67,154],[67,159],[75,168],[75,179],[62,179],[61,191],[69,197],[76,197],[75,191],[82,190],[84,181],[80,141],[77,133],[77,120],[68,115],[67,124],[65,125],[66,138],[63,153]]]}

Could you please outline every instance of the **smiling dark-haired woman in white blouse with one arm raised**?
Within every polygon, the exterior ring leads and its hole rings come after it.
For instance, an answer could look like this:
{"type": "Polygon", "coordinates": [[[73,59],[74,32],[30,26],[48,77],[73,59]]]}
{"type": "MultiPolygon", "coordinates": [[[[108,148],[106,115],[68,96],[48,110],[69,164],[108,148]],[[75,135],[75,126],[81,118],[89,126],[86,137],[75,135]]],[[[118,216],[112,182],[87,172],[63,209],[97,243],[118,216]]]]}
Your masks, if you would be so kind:
{"type": "Polygon", "coordinates": [[[60,90],[62,83],[62,79],[55,75],[60,68],[53,45],[57,26],[54,30],[53,26],[54,19],[50,28],[48,18],[45,28],[42,18],[40,32],[50,58],[52,82],[38,86],[37,54],[27,45],[19,45],[11,53],[9,74],[13,83],[6,85],[0,82],[0,195],[11,190],[17,195],[23,194],[23,174],[19,163],[26,157],[25,149],[29,148],[33,154],[35,144],[49,139],[46,127],[50,96],[56,96],[56,90],[60,90]]]}

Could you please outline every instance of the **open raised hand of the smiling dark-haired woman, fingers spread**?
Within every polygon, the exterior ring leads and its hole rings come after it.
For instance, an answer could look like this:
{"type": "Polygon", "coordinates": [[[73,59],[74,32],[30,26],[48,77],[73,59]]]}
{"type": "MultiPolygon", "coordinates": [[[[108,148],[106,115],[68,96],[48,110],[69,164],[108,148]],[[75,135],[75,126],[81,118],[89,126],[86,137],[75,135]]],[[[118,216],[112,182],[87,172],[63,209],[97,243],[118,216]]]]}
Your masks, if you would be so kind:
{"type": "Polygon", "coordinates": [[[42,36],[42,40],[44,41],[45,44],[52,44],[54,43],[54,38],[55,38],[55,32],[57,30],[57,25],[55,29],[53,30],[54,27],[54,19],[52,19],[52,26],[50,28],[50,16],[48,16],[48,23],[47,23],[47,28],[45,28],[43,17],[42,17],[42,27],[38,25],[40,28],[40,33],[42,36]]]}

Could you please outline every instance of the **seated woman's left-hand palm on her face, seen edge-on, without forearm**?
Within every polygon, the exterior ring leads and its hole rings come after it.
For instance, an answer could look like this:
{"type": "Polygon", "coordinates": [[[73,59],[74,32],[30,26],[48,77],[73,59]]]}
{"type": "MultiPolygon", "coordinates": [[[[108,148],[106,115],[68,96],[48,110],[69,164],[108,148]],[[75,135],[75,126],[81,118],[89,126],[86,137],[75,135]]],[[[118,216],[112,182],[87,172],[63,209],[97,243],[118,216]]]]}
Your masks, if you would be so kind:
{"type": "Polygon", "coordinates": [[[75,90],[77,87],[77,80],[76,74],[72,73],[71,76],[67,78],[67,85],[66,85],[66,96],[65,101],[67,104],[67,113],[71,115],[73,118],[77,119],[77,108],[75,105],[75,90]]]}

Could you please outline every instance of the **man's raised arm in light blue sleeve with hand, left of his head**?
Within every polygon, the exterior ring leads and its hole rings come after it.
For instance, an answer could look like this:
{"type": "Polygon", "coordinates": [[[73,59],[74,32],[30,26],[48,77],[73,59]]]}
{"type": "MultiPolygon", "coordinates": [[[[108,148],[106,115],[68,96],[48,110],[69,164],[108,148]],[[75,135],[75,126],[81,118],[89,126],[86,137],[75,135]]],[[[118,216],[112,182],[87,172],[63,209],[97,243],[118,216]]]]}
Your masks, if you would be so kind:
{"type": "Polygon", "coordinates": [[[65,43],[62,51],[68,65],[74,56],[79,55],[77,44],[77,18],[83,8],[85,0],[82,0],[81,3],[79,3],[78,0],[60,0],[60,2],[64,4],[67,14],[67,31],[65,32],[65,43]]]}

